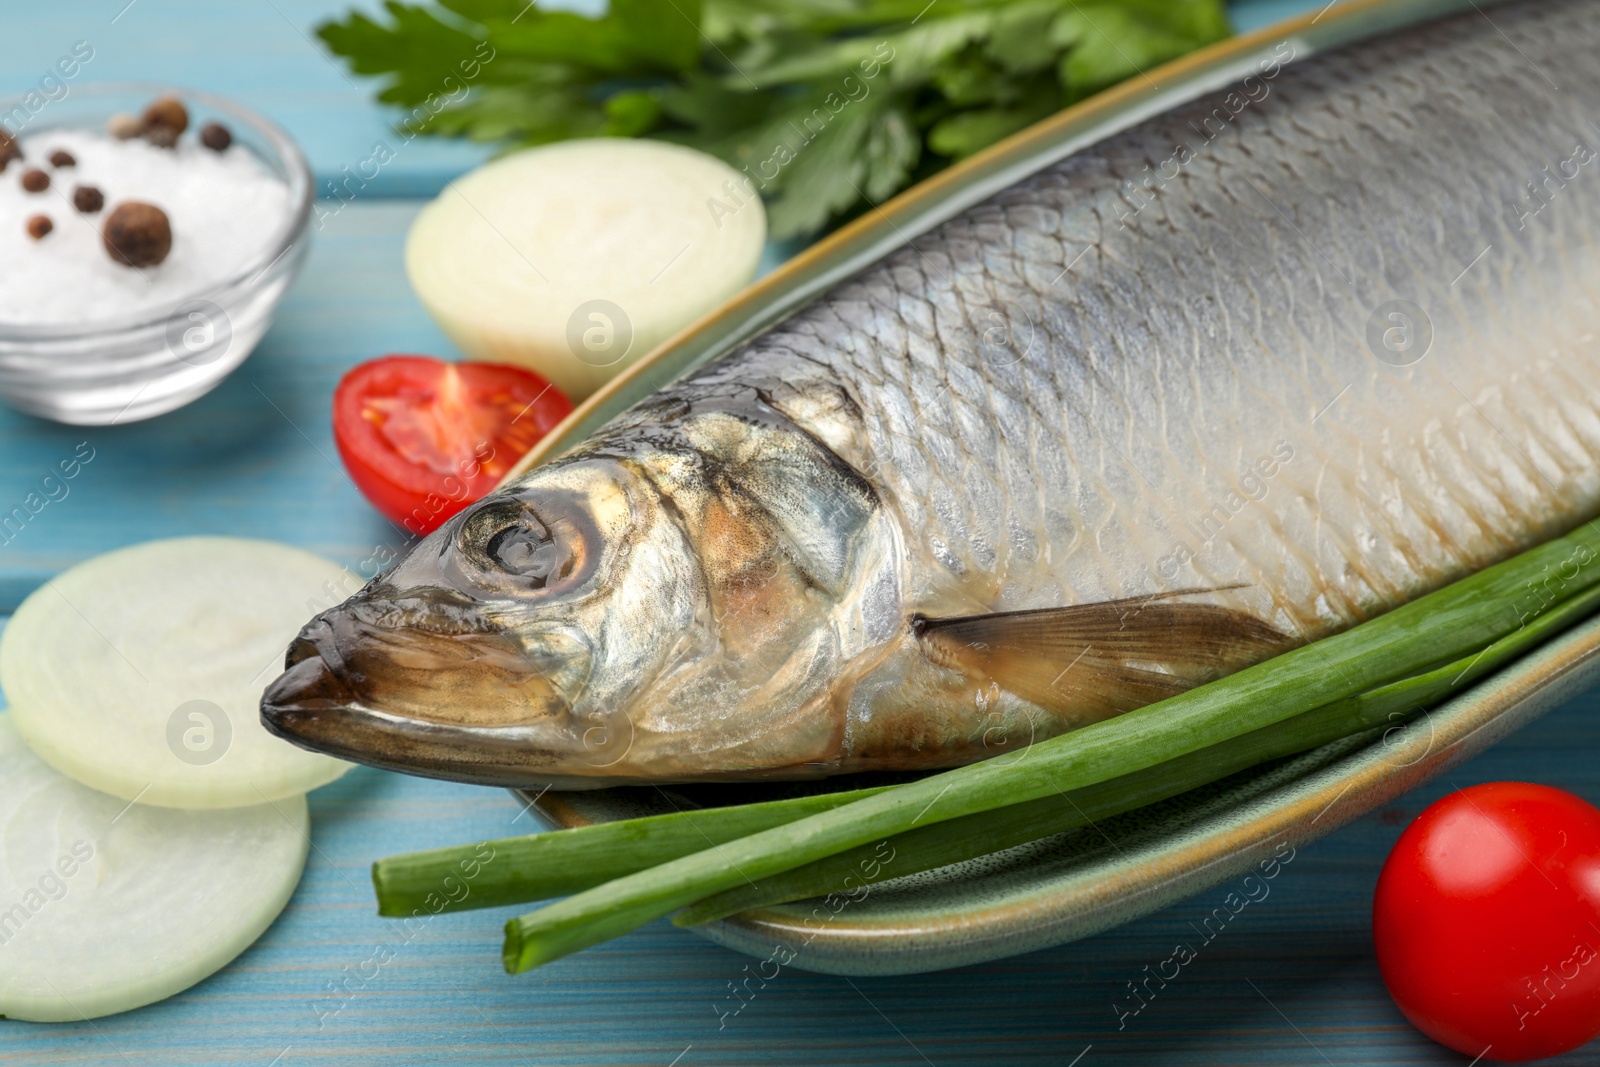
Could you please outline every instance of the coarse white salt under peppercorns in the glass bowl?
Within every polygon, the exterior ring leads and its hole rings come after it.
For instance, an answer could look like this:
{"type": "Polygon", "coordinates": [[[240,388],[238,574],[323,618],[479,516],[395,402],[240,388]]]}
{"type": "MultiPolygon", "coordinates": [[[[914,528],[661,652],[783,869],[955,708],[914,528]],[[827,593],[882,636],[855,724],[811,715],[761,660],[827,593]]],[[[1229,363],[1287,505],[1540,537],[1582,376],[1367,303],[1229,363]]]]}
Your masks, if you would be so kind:
{"type": "Polygon", "coordinates": [[[21,146],[24,158],[0,173],[0,325],[93,325],[170,307],[243,270],[290,211],[288,184],[238,144],[213,152],[186,138],[160,149],[58,130],[22,138],[21,146]],[[77,165],[50,166],[58,149],[77,165]],[[21,174],[35,166],[50,173],[50,189],[30,194],[21,174]],[[78,213],[78,186],[99,189],[104,208],[78,213]],[[173,251],[162,264],[125,267],[106,253],[101,226],[125,200],[154,203],[171,221],[173,251]],[[35,214],[54,222],[40,240],[27,234],[35,214]]]}

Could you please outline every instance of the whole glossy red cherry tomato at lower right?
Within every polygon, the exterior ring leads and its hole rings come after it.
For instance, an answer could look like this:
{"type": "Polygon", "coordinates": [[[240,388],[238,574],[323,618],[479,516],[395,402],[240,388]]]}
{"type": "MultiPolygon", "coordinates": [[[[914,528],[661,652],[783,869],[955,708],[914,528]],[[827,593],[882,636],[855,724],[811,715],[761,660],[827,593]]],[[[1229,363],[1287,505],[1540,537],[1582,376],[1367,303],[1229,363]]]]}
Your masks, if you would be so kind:
{"type": "Polygon", "coordinates": [[[1405,1017],[1464,1056],[1600,1037],[1600,809],[1525,782],[1445,797],[1384,862],[1373,939],[1405,1017]]]}

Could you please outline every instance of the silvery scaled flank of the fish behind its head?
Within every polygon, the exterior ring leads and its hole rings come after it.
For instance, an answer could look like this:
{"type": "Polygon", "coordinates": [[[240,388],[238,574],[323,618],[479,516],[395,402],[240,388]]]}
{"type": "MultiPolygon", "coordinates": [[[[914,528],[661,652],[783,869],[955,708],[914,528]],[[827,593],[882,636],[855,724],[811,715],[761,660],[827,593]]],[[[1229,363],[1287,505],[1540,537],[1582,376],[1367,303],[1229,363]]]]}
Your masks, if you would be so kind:
{"type": "MultiPolygon", "coordinates": [[[[1517,325],[1557,309],[1592,323],[1571,282],[1595,277],[1594,254],[1557,238],[1594,232],[1600,179],[1584,184],[1581,173],[1558,194],[1549,210],[1563,213],[1560,224],[1507,226],[1518,182],[1565,158],[1584,138],[1584,104],[1600,102],[1586,59],[1592,19],[1586,3],[1536,3],[1494,11],[1506,37],[1467,14],[1314,58],[1266,82],[1267,98],[1213,141],[1195,130],[1224,93],[1205,98],[915,238],[717,374],[741,363],[768,374],[794,350],[845,384],[874,478],[922,557],[912,571],[926,568],[928,606],[1024,608],[1248,581],[1256,606],[1270,598],[1307,638],[1394,606],[1595,510],[1592,406],[1568,413],[1525,384],[1501,402],[1507,430],[1474,398],[1517,382],[1517,325]],[[1563,72],[1558,96],[1536,67],[1563,72]],[[1178,144],[1203,147],[1120,229],[1131,211],[1125,182],[1178,144]],[[1453,290],[1488,243],[1501,254],[1453,290]],[[1085,251],[1064,283],[1040,285],[1085,251]],[[1486,309],[1507,299],[1512,312],[1533,310],[1539,286],[1514,275],[1563,253],[1571,282],[1554,278],[1533,315],[1490,322],[1486,309]],[[1398,370],[1374,358],[1362,331],[1379,294],[1429,310],[1432,360],[1398,370]],[[1024,374],[978,355],[981,315],[997,306],[1037,328],[1024,374]],[[866,312],[835,314],[843,307],[866,312]],[[1410,459],[1374,456],[1374,432],[1403,432],[1392,421],[1402,408],[1445,432],[1426,442],[1411,432],[1400,446],[1410,459]],[[1285,514],[1242,512],[1181,573],[1152,574],[1162,537],[1182,542],[1186,518],[1206,514],[1238,464],[1277,440],[1298,453],[1269,493],[1293,501],[1285,514]],[[1571,459],[1541,462],[1536,475],[1534,450],[1571,459]],[[1406,486],[1400,515],[1363,486],[1373,477],[1406,486]],[[1453,499],[1435,502],[1440,494],[1453,499]],[[1050,544],[1050,561],[1018,560],[1008,522],[1024,541],[1050,544]],[[1386,550],[1363,550],[1360,536],[1386,550]],[[1261,560],[1262,549],[1283,558],[1261,560]]],[[[1555,342],[1581,344],[1586,333],[1550,326],[1555,342]]],[[[1592,354],[1586,346],[1587,366],[1566,363],[1579,397],[1600,384],[1592,354]]]]}

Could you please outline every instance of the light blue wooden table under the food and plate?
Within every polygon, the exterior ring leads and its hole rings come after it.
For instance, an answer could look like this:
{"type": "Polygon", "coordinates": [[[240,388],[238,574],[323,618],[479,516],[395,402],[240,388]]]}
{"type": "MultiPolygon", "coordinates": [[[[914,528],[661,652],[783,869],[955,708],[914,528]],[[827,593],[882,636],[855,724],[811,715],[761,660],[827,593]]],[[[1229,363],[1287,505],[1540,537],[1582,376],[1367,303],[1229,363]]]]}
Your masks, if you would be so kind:
{"type": "MultiPolygon", "coordinates": [[[[6,0],[0,91],[26,88],[88,40],[96,54],[85,78],[165,78],[240,98],[290,128],[318,174],[338,174],[386,136],[386,118],[366,85],[349,83],[309,43],[330,6],[80,0],[24,10],[6,0]]],[[[1259,24],[1304,6],[1258,2],[1237,16],[1259,24]]],[[[419,208],[402,197],[437,190],[480,157],[467,146],[408,147],[382,184],[317,234],[259,350],[194,406],[96,430],[0,411],[0,510],[78,442],[96,450],[70,494],[0,547],[0,614],[45,576],[147,537],[277,537],[352,565],[398,544],[338,466],[328,397],[366,357],[453,354],[400,269],[419,208]]],[[[438,917],[410,937],[376,918],[373,859],[533,827],[501,790],[357,769],[312,795],[306,880],[237,963],[166,1003],[93,1024],[0,1022],[0,1062],[1464,1064],[1414,1033],[1384,993],[1368,925],[1379,864],[1403,824],[1453,785],[1530,779],[1600,801],[1595,752],[1600,697],[1586,696],[1448,782],[1302,849],[1269,901],[1123,1030],[1112,1003],[1125,984],[1187,937],[1221,889],[1091,941],[963,971],[854,982],[786,971],[718,1029],[714,1005],[746,960],[666,923],[507,977],[499,928],[515,909],[438,917]]],[[[1600,1049],[1554,1062],[1595,1064],[1600,1049]]]]}

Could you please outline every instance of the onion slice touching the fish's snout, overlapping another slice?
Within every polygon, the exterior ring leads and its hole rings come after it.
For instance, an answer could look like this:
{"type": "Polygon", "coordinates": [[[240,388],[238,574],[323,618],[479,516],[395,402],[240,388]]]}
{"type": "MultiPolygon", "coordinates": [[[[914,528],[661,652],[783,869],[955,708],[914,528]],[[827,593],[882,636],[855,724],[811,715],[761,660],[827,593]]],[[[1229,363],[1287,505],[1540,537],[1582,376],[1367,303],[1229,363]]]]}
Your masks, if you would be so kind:
{"type": "Polygon", "coordinates": [[[235,808],[304,793],[349,763],[261,726],[261,691],[344,568],[270,541],[176,537],[46,581],[0,637],[18,733],[62,774],[147,805],[235,808]]]}

